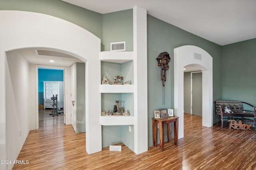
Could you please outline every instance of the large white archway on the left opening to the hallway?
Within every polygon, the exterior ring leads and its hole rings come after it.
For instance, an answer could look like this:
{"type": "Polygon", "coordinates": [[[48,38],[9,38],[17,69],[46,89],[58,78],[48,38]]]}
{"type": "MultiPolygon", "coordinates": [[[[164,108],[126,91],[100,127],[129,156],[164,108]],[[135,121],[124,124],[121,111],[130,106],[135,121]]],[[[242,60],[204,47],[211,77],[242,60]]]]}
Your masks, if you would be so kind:
{"type": "MultiPolygon", "coordinates": [[[[0,107],[2,110],[0,112],[0,159],[15,160],[21,148],[16,147],[16,150],[9,152],[7,145],[20,147],[21,143],[24,142],[24,139],[22,139],[23,141],[20,140],[22,136],[17,135],[20,132],[17,133],[6,128],[6,115],[8,114],[6,108],[12,107],[12,104],[6,102],[6,88],[8,88],[6,87],[6,69],[8,69],[8,66],[6,66],[6,51],[23,48],[42,47],[56,49],[77,57],[86,63],[86,151],[91,154],[102,150],[101,125],[99,115],[95,114],[101,112],[100,107],[98,107],[99,101],[101,101],[99,92],[99,84],[101,82],[100,39],[78,25],[45,14],[0,11],[0,16],[2,25],[0,27],[0,107]],[[15,138],[18,140],[8,141],[7,134],[16,135],[15,138]],[[19,143],[17,144],[16,142],[19,143]]],[[[27,97],[24,100],[27,101],[27,97]]],[[[29,100],[35,99],[31,98],[29,100]]],[[[38,106],[28,109],[33,118],[35,117],[33,113],[36,109],[38,109],[38,106]]],[[[20,128],[24,127],[16,127],[14,129],[20,128]]],[[[26,131],[22,131],[22,135],[28,133],[29,130],[36,129],[36,127],[33,123],[32,125],[30,123],[29,127],[25,129],[26,131]]]]}

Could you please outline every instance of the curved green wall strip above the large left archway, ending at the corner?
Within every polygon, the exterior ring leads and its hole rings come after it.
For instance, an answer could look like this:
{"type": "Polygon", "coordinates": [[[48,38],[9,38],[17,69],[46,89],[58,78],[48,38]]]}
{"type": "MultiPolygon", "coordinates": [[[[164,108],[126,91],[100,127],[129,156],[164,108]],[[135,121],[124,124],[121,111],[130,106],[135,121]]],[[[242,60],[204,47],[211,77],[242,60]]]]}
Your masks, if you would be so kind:
{"type": "Polygon", "coordinates": [[[61,0],[0,0],[0,10],[36,12],[70,21],[102,39],[102,14],[61,0]]]}

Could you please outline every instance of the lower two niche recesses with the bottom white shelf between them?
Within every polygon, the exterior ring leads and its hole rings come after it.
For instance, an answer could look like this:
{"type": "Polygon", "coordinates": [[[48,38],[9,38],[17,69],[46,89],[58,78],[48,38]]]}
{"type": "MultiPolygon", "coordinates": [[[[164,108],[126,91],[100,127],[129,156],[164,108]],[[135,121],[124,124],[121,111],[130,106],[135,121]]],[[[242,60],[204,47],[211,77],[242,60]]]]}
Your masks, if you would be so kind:
{"type": "MultiPolygon", "coordinates": [[[[130,86],[130,85],[113,85],[113,86],[130,86]]],[[[115,100],[119,100],[119,107],[127,109],[129,116],[106,115],[100,116],[100,125],[102,125],[102,147],[108,147],[117,143],[124,143],[131,150],[134,146],[129,143],[134,141],[134,93],[102,93],[101,109],[104,111],[111,110],[113,113],[115,100]],[[131,126],[131,132],[128,131],[131,126]]]]}

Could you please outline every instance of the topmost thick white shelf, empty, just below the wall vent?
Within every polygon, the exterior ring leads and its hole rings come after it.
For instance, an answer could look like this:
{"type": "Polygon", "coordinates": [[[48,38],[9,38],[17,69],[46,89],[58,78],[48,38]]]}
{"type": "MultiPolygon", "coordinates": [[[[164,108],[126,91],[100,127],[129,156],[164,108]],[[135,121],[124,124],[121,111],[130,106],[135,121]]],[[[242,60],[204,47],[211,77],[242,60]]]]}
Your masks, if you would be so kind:
{"type": "Polygon", "coordinates": [[[125,63],[133,60],[133,51],[102,51],[100,61],[111,63],[125,63]]]}

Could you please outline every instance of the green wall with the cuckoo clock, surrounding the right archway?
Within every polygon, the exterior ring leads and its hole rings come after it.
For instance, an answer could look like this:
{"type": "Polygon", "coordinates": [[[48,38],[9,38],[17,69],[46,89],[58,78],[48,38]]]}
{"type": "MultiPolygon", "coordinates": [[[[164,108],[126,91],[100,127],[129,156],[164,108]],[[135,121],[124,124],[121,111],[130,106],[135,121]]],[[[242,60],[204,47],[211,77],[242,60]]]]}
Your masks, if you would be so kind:
{"type": "MultiPolygon", "coordinates": [[[[152,120],[154,110],[174,108],[174,48],[195,45],[207,51],[213,58],[213,100],[221,98],[221,50],[222,47],[174,25],[148,15],[148,146],[152,141],[152,120]],[[167,51],[170,54],[170,69],[166,71],[165,105],[162,104],[162,81],[156,57],[167,51]]],[[[174,113],[175,115],[175,113],[174,113]]],[[[215,115],[213,115],[215,120],[215,115]]],[[[167,140],[167,137],[165,137],[167,140]]]]}

